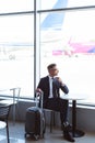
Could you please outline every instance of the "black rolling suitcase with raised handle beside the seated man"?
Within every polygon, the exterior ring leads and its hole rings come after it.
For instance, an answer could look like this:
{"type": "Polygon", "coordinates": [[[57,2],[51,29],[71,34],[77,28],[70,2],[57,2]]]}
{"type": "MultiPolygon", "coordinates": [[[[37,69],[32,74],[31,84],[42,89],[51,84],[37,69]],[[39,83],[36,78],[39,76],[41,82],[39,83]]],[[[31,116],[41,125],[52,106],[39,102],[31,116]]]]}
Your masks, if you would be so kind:
{"type": "MultiPolygon", "coordinates": [[[[37,94],[36,94],[37,95],[37,94]]],[[[40,96],[40,105],[38,108],[37,97],[36,96],[36,107],[31,107],[26,109],[26,119],[25,119],[25,138],[27,135],[33,136],[35,140],[44,138],[45,133],[45,117],[43,111],[43,92],[40,96]]]]}

